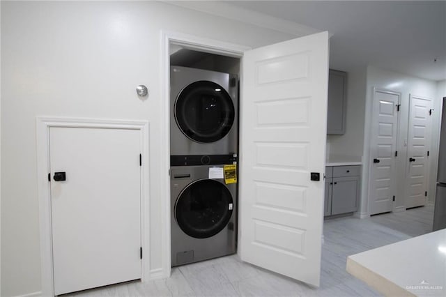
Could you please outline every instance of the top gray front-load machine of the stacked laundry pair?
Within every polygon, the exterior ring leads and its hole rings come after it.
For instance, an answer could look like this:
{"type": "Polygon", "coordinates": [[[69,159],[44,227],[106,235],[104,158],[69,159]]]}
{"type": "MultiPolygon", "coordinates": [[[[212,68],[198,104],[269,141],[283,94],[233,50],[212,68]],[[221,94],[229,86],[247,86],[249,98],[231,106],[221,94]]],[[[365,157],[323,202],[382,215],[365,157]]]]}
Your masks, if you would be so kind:
{"type": "Polygon", "coordinates": [[[171,67],[171,155],[227,155],[238,148],[238,77],[171,67]]]}

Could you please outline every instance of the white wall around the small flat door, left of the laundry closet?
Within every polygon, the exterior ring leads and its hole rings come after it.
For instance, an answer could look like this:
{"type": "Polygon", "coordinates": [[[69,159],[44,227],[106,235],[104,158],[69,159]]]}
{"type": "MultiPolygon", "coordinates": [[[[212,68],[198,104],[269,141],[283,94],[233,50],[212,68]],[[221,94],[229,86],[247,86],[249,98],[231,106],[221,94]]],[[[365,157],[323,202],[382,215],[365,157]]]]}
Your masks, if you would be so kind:
{"type": "Polygon", "coordinates": [[[150,257],[162,269],[162,30],[249,47],[293,38],[153,1],[1,2],[1,296],[40,291],[37,115],[150,121],[150,257]]]}

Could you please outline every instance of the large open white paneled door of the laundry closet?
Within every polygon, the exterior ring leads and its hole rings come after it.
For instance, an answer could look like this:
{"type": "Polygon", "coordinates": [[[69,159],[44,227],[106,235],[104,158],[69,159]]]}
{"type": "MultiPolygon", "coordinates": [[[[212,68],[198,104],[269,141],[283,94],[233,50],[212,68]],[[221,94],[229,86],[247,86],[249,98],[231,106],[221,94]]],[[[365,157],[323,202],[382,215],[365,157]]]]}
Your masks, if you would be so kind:
{"type": "Polygon", "coordinates": [[[240,257],[318,286],[328,33],[245,52],[241,86],[240,257]]]}

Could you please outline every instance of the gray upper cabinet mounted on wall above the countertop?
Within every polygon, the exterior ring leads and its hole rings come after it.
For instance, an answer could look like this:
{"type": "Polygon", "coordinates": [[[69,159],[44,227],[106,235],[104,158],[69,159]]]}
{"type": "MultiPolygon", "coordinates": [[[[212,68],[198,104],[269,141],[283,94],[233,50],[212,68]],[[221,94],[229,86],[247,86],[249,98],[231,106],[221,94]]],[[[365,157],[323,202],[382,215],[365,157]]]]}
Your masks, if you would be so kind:
{"type": "Polygon", "coordinates": [[[327,134],[346,132],[347,73],[330,69],[328,75],[327,134]]]}

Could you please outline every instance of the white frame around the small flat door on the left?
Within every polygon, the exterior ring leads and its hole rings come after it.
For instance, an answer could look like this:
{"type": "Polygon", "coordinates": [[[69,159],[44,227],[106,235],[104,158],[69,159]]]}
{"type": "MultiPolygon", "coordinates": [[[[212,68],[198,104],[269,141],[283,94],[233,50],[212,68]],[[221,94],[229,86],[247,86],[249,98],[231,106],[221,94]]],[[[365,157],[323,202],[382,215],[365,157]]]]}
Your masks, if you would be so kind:
{"type": "Polygon", "coordinates": [[[38,116],[36,118],[37,178],[40,215],[40,265],[42,295],[54,296],[54,272],[52,257],[51,192],[49,173],[49,128],[108,128],[139,130],[141,140],[141,245],[146,257],[141,260],[141,281],[150,279],[150,226],[149,226],[149,123],[148,121],[125,121],[109,119],[75,119],[38,116]]]}

